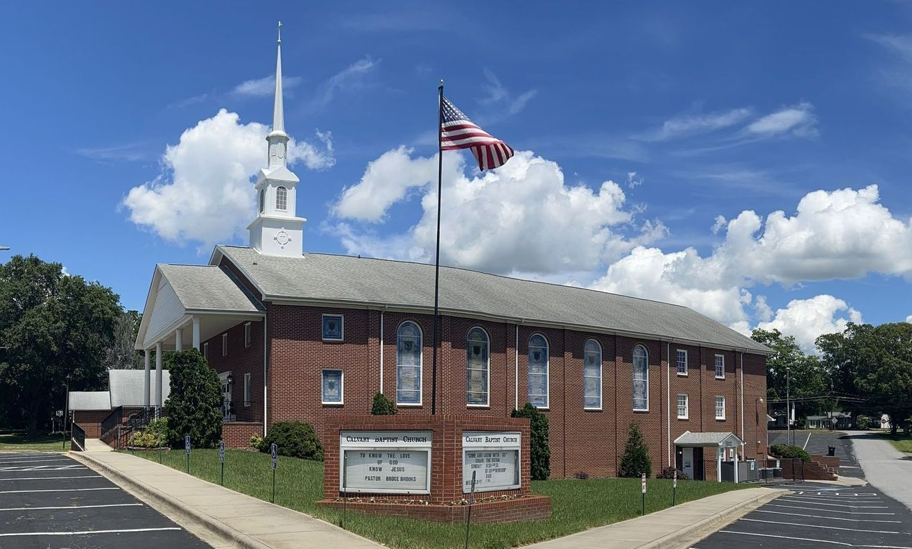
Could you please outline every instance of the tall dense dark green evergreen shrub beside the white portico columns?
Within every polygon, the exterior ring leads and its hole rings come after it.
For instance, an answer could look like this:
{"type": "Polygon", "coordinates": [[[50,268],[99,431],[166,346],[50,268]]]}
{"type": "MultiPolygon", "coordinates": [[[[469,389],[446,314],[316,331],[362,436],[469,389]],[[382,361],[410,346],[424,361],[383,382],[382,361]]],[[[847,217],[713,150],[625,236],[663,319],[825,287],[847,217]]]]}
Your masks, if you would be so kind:
{"type": "Polygon", "coordinates": [[[165,401],[168,445],[182,448],[190,435],[194,448],[215,448],[222,438],[222,384],[196,349],[169,353],[171,394],[165,401]]]}

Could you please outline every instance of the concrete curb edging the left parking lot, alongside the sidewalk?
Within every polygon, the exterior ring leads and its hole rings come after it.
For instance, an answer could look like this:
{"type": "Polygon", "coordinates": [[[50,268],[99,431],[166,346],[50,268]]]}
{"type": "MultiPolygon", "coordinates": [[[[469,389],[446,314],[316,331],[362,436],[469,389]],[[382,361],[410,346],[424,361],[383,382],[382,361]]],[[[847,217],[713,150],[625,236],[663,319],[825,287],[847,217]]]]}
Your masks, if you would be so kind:
{"type": "Polygon", "coordinates": [[[131,495],[149,504],[159,513],[180,524],[188,532],[196,535],[213,547],[238,547],[240,549],[270,549],[266,544],[256,541],[251,535],[240,532],[231,526],[217,521],[206,513],[192,507],[184,507],[168,494],[152,486],[136,482],[132,477],[94,459],[90,454],[72,452],[70,456],[86,466],[102,472],[109,480],[117,483],[131,495]]]}

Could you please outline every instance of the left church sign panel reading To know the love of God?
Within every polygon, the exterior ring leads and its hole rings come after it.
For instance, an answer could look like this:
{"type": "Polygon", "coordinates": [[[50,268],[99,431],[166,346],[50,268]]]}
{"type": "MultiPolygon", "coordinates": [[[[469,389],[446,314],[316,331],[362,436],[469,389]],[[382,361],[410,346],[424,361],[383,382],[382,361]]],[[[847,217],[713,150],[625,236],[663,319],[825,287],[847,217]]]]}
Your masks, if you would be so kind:
{"type": "Polygon", "coordinates": [[[343,430],[339,491],[430,493],[430,430],[343,430]]]}

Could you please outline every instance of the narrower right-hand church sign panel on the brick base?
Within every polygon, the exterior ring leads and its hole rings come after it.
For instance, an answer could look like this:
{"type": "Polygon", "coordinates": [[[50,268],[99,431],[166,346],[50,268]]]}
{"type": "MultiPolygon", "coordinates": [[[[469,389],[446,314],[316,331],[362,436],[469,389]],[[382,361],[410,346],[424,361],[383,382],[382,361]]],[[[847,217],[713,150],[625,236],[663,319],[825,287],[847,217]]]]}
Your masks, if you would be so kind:
{"type": "Polygon", "coordinates": [[[462,492],[472,492],[472,471],[475,492],[519,488],[520,437],[519,432],[462,431],[462,492]]]}

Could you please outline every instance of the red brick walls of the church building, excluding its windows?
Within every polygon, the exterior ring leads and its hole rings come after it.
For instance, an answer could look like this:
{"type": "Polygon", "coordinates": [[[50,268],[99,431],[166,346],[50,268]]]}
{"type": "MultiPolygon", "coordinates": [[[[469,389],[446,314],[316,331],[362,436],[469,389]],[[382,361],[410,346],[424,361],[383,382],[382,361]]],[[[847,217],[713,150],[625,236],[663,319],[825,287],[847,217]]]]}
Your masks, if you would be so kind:
{"type": "MultiPolygon", "coordinates": [[[[302,420],[314,425],[326,441],[327,421],[341,414],[368,414],[371,399],[380,388],[380,312],[267,304],[269,330],[269,417],[271,425],[281,420],[302,420]],[[322,340],[322,314],[345,317],[345,341],[322,340]],[[344,404],[321,404],[323,368],[344,372],[344,404]]],[[[430,414],[432,317],[399,312],[383,314],[383,392],[396,399],[396,332],[399,325],[415,322],[423,336],[422,402],[399,407],[399,417],[430,414]]],[[[221,336],[210,340],[210,364],[217,371],[232,370],[233,399],[243,399],[243,374],[253,375],[254,396],[262,400],[263,323],[253,323],[253,342],[243,348],[243,324],[229,334],[229,356],[221,357],[221,336]]],[[[640,424],[648,444],[654,471],[673,462],[673,441],[685,430],[731,431],[745,440],[744,455],[762,459],[766,449],[766,359],[743,356],[743,417],[741,417],[741,353],[710,347],[667,344],[656,340],[587,334],[557,328],[516,326],[469,318],[440,318],[437,411],[446,414],[507,417],[514,401],[523,406],[527,394],[526,354],[529,338],[538,333],[549,345],[549,408],[547,415],[554,477],[571,477],[578,471],[594,476],[617,474],[617,462],[627,440],[627,427],[640,424]],[[490,339],[490,396],[487,407],[468,407],[465,402],[466,335],[481,326],[490,339]],[[602,347],[602,409],[583,408],[583,348],[588,338],[602,347]],[[648,411],[633,411],[633,348],[648,350],[648,411]],[[688,375],[677,374],[677,349],[688,351],[688,375]],[[668,364],[670,351],[671,363],[668,364]],[[519,358],[518,393],[514,391],[514,360],[519,358]],[[725,378],[716,379],[713,357],[725,356],[725,378]],[[689,419],[677,418],[677,395],[689,397],[689,419]],[[725,396],[725,420],[715,419],[715,397],[725,396]],[[668,418],[670,413],[670,418],[668,418]],[[669,426],[670,423],[670,426],[669,426]],[[743,432],[741,425],[743,424],[743,432]],[[758,444],[758,440],[760,443],[758,444]]],[[[249,416],[237,406],[238,420],[262,420],[262,404],[249,416]]],[[[704,454],[706,476],[715,478],[715,449],[704,454]]]]}

